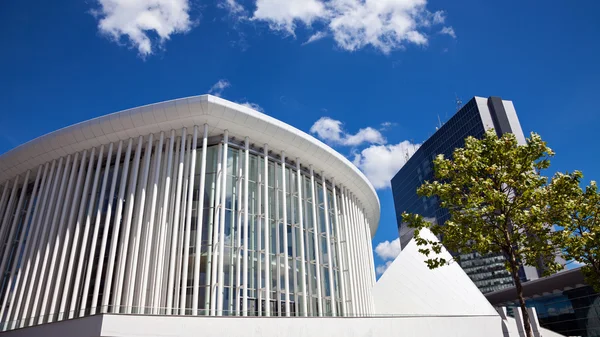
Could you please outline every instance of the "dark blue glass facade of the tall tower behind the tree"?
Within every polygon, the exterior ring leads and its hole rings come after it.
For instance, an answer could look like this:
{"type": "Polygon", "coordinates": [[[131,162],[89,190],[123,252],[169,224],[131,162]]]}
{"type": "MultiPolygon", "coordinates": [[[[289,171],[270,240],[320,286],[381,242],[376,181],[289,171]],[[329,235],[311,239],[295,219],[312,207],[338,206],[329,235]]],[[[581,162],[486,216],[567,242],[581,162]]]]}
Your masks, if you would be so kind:
{"type": "MultiPolygon", "coordinates": [[[[446,158],[452,158],[454,149],[464,146],[465,138],[480,138],[485,131],[481,112],[473,98],[429,137],[392,178],[394,208],[402,247],[412,238],[412,231],[402,224],[403,212],[420,214],[436,224],[443,224],[450,218],[448,210],[439,207],[437,198],[419,197],[416,193],[417,188],[425,181],[435,178],[435,157],[443,154],[446,158]]],[[[503,261],[504,258],[498,255],[460,256],[461,267],[483,293],[512,286],[512,278],[505,270],[503,261]]]]}

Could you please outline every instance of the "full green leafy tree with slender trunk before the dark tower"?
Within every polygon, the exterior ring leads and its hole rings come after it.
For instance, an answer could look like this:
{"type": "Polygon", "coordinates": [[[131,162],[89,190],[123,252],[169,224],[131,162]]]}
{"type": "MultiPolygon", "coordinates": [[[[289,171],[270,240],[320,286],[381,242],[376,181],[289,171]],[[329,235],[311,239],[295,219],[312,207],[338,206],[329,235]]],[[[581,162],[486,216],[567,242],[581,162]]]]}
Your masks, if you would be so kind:
{"type": "Polygon", "coordinates": [[[555,262],[556,249],[551,241],[554,232],[547,225],[548,179],[540,174],[550,166],[553,155],[535,133],[524,145],[519,145],[513,134],[499,138],[493,130],[482,139],[469,137],[464,148],[454,151],[452,159],[439,155],[434,160],[436,179],[417,190],[420,196],[437,197],[450,219],[434,224],[418,214],[402,215],[403,221],[415,229],[416,243],[428,257],[430,269],[451,262],[437,256],[443,246],[457,258],[469,253],[503,255],[528,337],[532,332],[520,265],[543,265],[548,273],[561,268],[555,262]],[[419,237],[422,228],[429,228],[441,240],[419,237]]]}

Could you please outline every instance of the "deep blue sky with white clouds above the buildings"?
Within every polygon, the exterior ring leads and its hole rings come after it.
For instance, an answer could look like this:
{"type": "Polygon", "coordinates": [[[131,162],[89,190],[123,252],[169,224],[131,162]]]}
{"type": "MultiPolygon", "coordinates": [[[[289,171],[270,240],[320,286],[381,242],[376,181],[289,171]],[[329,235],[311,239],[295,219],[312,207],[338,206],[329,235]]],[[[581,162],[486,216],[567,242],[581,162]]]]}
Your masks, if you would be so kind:
{"type": "Polygon", "coordinates": [[[451,116],[455,95],[513,100],[524,131],[557,152],[549,173],[600,178],[599,11],[585,0],[3,1],[0,153],[221,83],[213,93],[306,132],[320,120],[315,135],[359,155],[379,187],[375,247],[397,237],[385,186],[397,153],[451,116]]]}

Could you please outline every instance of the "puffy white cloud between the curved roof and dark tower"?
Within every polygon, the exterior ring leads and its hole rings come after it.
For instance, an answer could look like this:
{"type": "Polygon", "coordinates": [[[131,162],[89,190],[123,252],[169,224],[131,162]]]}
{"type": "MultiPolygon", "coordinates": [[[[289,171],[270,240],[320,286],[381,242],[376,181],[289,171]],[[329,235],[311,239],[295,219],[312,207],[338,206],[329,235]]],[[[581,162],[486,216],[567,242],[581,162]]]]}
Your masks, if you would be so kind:
{"type": "Polygon", "coordinates": [[[354,156],[356,165],[377,189],[390,187],[392,177],[419,148],[405,140],[398,144],[371,145],[354,156]]]}

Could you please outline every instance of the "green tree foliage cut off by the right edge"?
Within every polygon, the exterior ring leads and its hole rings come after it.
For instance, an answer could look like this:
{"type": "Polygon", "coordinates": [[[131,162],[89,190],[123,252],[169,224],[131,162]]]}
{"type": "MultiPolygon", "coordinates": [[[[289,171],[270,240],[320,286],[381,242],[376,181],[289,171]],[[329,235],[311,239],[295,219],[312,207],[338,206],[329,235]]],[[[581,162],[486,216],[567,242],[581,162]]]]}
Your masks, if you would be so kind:
{"type": "Polygon", "coordinates": [[[600,291],[600,193],[595,181],[582,189],[582,178],[579,171],[552,178],[551,221],[563,227],[554,239],[565,259],[583,263],[586,282],[600,291]]]}

